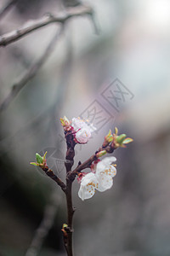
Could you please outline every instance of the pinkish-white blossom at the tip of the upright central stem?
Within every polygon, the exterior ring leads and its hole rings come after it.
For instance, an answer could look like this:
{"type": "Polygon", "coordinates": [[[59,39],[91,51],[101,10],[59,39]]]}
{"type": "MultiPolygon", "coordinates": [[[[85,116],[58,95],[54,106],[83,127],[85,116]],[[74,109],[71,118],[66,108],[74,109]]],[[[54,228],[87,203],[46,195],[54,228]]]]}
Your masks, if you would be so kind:
{"type": "Polygon", "coordinates": [[[78,143],[88,143],[91,133],[96,130],[94,125],[87,125],[87,123],[80,118],[73,118],[71,126],[75,131],[75,138],[78,143]]]}

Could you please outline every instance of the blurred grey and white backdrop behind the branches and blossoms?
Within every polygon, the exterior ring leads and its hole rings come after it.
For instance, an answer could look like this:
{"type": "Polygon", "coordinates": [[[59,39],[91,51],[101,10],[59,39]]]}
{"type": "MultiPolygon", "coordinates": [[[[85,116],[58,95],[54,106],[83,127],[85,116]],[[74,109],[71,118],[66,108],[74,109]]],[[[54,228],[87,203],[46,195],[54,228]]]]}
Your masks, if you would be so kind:
{"type": "MultiPolygon", "coordinates": [[[[76,2],[15,1],[0,16],[1,35],[76,2]]],[[[1,0],[0,9],[7,3],[1,0]]],[[[48,165],[65,179],[64,115],[88,117],[98,129],[88,144],[77,145],[75,166],[115,126],[134,139],[113,154],[110,190],[81,201],[74,182],[75,255],[170,255],[170,2],[86,4],[94,8],[99,34],[89,16],[68,20],[34,78],[1,109],[0,255],[65,255],[64,195],[29,164],[48,150],[48,165]]],[[[0,48],[1,103],[58,30],[59,24],[45,26],[0,48]]]]}

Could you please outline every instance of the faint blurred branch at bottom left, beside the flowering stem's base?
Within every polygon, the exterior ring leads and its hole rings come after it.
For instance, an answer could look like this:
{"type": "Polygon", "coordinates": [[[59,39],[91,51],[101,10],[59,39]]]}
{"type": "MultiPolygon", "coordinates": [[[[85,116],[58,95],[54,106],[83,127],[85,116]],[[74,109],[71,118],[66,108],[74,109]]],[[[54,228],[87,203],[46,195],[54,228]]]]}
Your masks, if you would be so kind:
{"type": "Polygon", "coordinates": [[[54,218],[58,212],[60,201],[61,195],[60,193],[56,193],[56,189],[54,189],[51,194],[51,198],[49,199],[49,203],[44,209],[42,222],[35,232],[31,245],[26,252],[26,256],[36,256],[39,253],[43,241],[46,236],[48,236],[48,231],[54,224],[54,218]]]}

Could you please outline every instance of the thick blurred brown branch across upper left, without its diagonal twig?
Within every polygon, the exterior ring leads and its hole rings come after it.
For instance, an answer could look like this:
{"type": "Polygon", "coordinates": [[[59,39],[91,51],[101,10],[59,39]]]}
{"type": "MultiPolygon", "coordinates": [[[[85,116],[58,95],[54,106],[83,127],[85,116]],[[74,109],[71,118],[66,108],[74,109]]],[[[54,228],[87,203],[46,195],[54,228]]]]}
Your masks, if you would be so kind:
{"type": "Polygon", "coordinates": [[[93,9],[87,6],[79,6],[74,9],[68,9],[65,13],[62,12],[59,15],[44,15],[39,20],[28,20],[25,25],[21,26],[19,29],[16,29],[12,32],[8,32],[0,37],[0,46],[6,46],[13,43],[14,41],[23,38],[27,34],[36,31],[42,26],[48,26],[51,23],[65,23],[66,20],[71,19],[72,17],[82,16],[82,15],[92,15],[93,9]]]}

